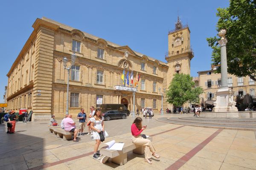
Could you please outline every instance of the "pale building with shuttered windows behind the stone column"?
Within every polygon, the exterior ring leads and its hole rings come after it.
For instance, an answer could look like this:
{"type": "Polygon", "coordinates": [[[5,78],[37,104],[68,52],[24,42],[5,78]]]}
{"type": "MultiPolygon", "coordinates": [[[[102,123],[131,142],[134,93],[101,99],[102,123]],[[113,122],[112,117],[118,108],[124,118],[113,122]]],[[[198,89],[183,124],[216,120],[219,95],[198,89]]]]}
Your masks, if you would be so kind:
{"type": "MultiPolygon", "coordinates": [[[[201,94],[200,102],[203,100],[206,105],[211,106],[216,100],[216,91],[221,87],[221,74],[215,73],[216,66],[212,66],[211,70],[199,71],[198,72],[198,83],[204,90],[204,93],[201,94]]],[[[243,98],[244,95],[250,94],[253,99],[256,98],[255,90],[256,84],[255,81],[247,77],[236,77],[234,75],[228,74],[227,83],[229,88],[233,88],[234,96],[240,96],[243,98]]],[[[203,103],[204,103],[203,102],[203,103]]]]}

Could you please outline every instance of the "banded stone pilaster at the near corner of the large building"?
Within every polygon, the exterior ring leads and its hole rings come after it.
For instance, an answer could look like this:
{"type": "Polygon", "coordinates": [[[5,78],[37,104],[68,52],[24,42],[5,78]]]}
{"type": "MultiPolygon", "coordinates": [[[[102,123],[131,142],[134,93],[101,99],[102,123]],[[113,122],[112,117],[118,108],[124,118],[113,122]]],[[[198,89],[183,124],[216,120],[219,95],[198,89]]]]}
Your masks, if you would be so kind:
{"type": "Polygon", "coordinates": [[[53,48],[54,31],[41,26],[36,40],[32,121],[51,118],[53,48]]]}

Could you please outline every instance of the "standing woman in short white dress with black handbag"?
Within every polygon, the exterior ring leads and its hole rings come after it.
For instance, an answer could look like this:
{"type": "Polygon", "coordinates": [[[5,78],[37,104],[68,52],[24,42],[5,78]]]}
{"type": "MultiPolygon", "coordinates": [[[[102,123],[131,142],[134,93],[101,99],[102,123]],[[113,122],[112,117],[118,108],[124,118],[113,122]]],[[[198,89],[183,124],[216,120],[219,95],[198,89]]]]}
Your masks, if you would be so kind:
{"type": "Polygon", "coordinates": [[[96,144],[94,145],[94,153],[93,153],[93,159],[100,159],[99,156],[100,153],[98,153],[99,144],[100,144],[100,136],[99,132],[104,132],[104,122],[103,122],[103,116],[100,109],[96,109],[94,116],[91,118],[90,128],[93,130],[93,139],[96,140],[96,144]]]}

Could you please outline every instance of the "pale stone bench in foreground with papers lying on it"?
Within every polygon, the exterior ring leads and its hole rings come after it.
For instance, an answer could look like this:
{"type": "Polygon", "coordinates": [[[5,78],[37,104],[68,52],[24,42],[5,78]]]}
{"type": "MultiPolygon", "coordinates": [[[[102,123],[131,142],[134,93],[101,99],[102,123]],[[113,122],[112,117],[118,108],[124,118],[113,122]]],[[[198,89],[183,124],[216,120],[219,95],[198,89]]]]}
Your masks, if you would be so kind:
{"type": "MultiPolygon", "coordinates": [[[[153,141],[153,137],[148,137],[151,142],[153,141]]],[[[137,153],[140,155],[144,154],[144,147],[141,145],[133,144],[130,139],[119,139],[116,142],[124,142],[124,147],[122,150],[106,150],[108,146],[104,146],[100,149],[100,153],[102,155],[108,156],[112,158],[111,161],[113,163],[124,165],[127,162],[127,153],[133,151],[133,153],[137,153]]]]}

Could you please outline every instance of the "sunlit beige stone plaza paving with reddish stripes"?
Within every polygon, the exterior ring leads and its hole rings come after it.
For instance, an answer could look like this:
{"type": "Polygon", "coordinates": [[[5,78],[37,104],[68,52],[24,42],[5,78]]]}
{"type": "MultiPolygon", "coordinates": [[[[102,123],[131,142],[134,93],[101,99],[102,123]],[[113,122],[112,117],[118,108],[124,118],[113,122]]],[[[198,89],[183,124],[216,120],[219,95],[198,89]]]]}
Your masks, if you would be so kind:
{"type": "MultiPolygon", "coordinates": [[[[153,137],[161,156],[153,158],[151,165],[144,161],[144,155],[132,152],[128,153],[125,165],[110,161],[101,164],[92,158],[95,141],[90,136],[81,136],[79,142],[64,141],[49,132],[48,122],[17,122],[14,134],[6,133],[6,124],[0,125],[0,169],[256,170],[255,131],[176,125],[168,123],[170,117],[180,115],[156,114],[152,119],[143,118],[143,124],[148,125],[143,133],[153,137]],[[157,119],[166,119],[166,122],[157,119]]],[[[105,130],[110,135],[105,142],[127,140],[133,120],[130,115],[127,119],[105,121],[105,130]]]]}

